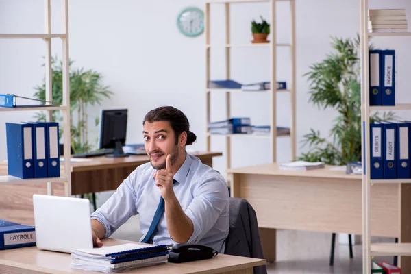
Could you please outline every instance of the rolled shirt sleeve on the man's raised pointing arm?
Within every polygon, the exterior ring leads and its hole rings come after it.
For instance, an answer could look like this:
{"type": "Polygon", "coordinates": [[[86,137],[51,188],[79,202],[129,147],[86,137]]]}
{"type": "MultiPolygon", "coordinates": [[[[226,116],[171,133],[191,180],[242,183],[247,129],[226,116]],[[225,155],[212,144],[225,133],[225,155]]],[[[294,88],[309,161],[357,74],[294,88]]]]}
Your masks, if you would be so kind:
{"type": "Polygon", "coordinates": [[[199,242],[229,206],[227,185],[219,177],[204,179],[199,187],[195,188],[193,195],[194,199],[184,212],[193,225],[188,243],[199,242]]]}

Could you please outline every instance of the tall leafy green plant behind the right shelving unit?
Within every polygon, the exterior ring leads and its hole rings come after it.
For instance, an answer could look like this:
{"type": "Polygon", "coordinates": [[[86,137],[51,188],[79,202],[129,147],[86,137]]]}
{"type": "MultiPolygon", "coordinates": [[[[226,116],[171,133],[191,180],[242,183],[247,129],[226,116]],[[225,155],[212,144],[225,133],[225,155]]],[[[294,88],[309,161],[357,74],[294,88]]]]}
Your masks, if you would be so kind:
{"type": "MultiPolygon", "coordinates": [[[[354,40],[332,38],[334,53],[312,64],[304,76],[310,82],[310,100],[319,108],[335,108],[338,115],[329,132],[329,139],[319,131],[310,129],[303,136],[303,145],[310,151],[297,160],[324,162],[330,165],[346,165],[361,161],[361,85],[360,85],[360,37],[354,40]]],[[[372,48],[372,47],[371,47],[372,48]]],[[[393,112],[370,116],[370,122],[395,121],[393,112]]]]}

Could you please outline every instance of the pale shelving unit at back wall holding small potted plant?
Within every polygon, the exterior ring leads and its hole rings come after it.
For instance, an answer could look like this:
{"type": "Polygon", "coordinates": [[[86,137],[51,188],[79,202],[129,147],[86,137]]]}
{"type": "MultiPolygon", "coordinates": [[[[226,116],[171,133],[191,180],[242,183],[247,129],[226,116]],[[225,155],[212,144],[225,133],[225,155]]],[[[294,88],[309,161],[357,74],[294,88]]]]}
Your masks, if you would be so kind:
{"type": "MultiPolygon", "coordinates": [[[[226,169],[231,168],[231,138],[236,136],[249,136],[249,138],[269,138],[271,147],[267,149],[269,153],[271,153],[271,162],[277,161],[277,137],[284,136],[277,134],[277,115],[276,115],[276,105],[277,105],[277,92],[290,92],[290,101],[291,101],[291,109],[290,109],[290,134],[286,136],[290,137],[291,143],[291,158],[295,159],[295,0],[225,0],[225,1],[215,1],[215,0],[208,0],[206,1],[206,12],[205,12],[205,30],[206,30],[206,132],[207,132],[207,151],[211,149],[211,136],[219,135],[225,136],[226,138],[226,169]],[[290,2],[290,14],[291,14],[291,39],[290,43],[284,44],[277,44],[276,38],[276,30],[275,25],[277,25],[276,20],[276,3],[277,1],[288,1],[290,2]],[[271,40],[267,43],[258,43],[258,44],[232,44],[230,40],[230,6],[233,4],[240,4],[240,3],[258,3],[258,2],[266,2],[269,4],[270,10],[270,18],[269,21],[271,22],[271,40]],[[223,4],[225,5],[225,43],[221,44],[211,44],[210,43],[210,5],[212,4],[223,4]],[[225,48],[225,77],[226,79],[230,79],[230,49],[234,47],[244,47],[245,51],[247,48],[250,47],[257,47],[263,48],[268,47],[270,50],[270,82],[271,86],[277,86],[277,73],[276,73],[276,61],[277,61],[277,47],[288,47],[290,48],[291,53],[291,81],[287,83],[289,89],[287,90],[262,90],[258,92],[265,92],[268,93],[270,99],[268,103],[271,107],[271,115],[270,115],[270,126],[271,132],[270,134],[266,134],[265,136],[257,135],[257,134],[210,134],[208,132],[208,124],[210,123],[210,97],[211,92],[225,92],[225,99],[226,99],[226,117],[227,119],[231,118],[231,95],[235,92],[249,92],[243,91],[240,89],[210,89],[208,88],[208,82],[210,81],[210,51],[211,49],[221,49],[225,48]]],[[[257,91],[253,91],[257,92],[257,91]]]]}

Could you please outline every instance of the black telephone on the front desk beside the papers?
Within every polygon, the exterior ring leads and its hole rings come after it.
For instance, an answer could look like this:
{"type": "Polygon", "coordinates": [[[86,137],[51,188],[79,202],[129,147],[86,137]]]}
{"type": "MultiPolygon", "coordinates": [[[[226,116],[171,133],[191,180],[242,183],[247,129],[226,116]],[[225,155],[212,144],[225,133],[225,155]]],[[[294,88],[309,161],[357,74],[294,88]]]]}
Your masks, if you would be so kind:
{"type": "Polygon", "coordinates": [[[217,256],[219,252],[205,245],[178,244],[171,247],[169,262],[191,262],[210,259],[217,256]]]}

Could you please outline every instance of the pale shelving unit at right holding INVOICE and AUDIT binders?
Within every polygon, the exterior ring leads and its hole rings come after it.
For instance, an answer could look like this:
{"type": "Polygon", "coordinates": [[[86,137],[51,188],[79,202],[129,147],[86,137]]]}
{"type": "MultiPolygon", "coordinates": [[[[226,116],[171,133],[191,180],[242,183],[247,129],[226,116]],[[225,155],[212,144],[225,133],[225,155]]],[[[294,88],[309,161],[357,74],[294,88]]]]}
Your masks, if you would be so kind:
{"type": "MultiPolygon", "coordinates": [[[[411,243],[373,243],[371,244],[371,187],[373,184],[406,184],[411,179],[371,179],[370,177],[370,127],[369,117],[374,110],[411,110],[411,104],[394,106],[369,105],[369,38],[382,36],[411,36],[411,32],[368,32],[369,0],[360,0],[361,23],[361,116],[362,116],[362,159],[366,162],[366,174],[362,175],[362,257],[364,274],[371,273],[373,256],[411,256],[411,243]],[[365,128],[364,128],[365,127],[365,128]],[[366,155],[364,155],[364,152],[366,155]]],[[[404,37],[407,39],[407,37],[404,37]]],[[[401,60],[401,58],[399,59],[401,60]]],[[[411,213],[411,212],[410,212],[411,213]]]]}

